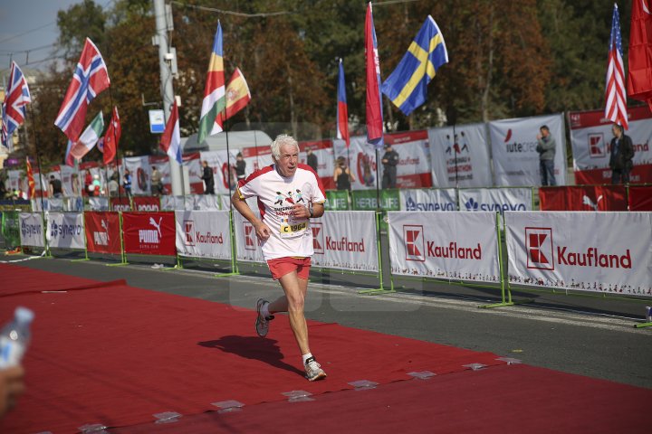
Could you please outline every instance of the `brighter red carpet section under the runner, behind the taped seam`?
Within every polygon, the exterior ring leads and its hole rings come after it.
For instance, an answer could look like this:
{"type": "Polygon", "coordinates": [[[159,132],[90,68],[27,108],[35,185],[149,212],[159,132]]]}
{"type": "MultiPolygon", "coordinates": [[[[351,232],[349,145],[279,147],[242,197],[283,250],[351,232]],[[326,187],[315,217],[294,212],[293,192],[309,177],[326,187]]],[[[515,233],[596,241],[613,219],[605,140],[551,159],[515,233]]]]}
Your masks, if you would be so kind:
{"type": "Polygon", "coordinates": [[[93,288],[89,279],[14,265],[0,264],[0,275],[0,318],[19,305],[36,314],[24,360],[27,392],[0,432],[129,426],[163,411],[215,410],[215,401],[252,406],[283,401],[281,393],[292,390],[321,395],[357,380],[387,384],[412,371],[503,364],[490,353],[311,322],[311,346],[329,378],[310,383],[284,317],[261,339],[252,312],[222,304],[121,284],[93,288]],[[40,292],[66,288],[88,289],[40,292]]]}

